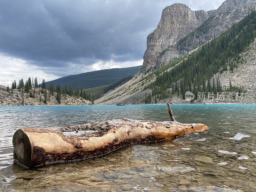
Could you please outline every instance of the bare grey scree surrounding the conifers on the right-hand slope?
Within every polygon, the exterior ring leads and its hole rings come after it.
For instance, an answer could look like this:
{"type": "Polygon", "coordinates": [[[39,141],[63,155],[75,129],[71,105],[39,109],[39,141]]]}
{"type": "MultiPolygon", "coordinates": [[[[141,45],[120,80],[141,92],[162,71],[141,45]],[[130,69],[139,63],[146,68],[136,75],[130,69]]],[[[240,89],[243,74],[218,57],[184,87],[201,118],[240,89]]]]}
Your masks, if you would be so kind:
{"type": "MultiPolygon", "coordinates": [[[[233,72],[226,71],[222,74],[217,73],[214,75],[214,78],[217,79],[217,76],[220,77],[220,81],[223,87],[229,86],[229,81],[231,80],[234,86],[240,86],[244,88],[244,98],[238,103],[256,103],[256,39],[252,44],[250,44],[247,51],[241,54],[242,59],[237,61],[240,63],[233,72]]],[[[177,64],[179,65],[179,63],[177,64]]],[[[167,65],[166,65],[167,66],[167,65]]],[[[165,69],[166,70],[166,69],[165,69]]],[[[167,70],[172,70],[168,68],[167,70]]],[[[116,104],[116,103],[128,103],[128,104],[142,104],[142,99],[146,94],[152,93],[152,90],[147,89],[143,90],[143,86],[148,85],[150,82],[156,79],[156,74],[153,75],[153,78],[147,78],[149,75],[144,75],[144,73],[135,76],[131,81],[126,84],[118,87],[115,90],[112,90],[105,94],[102,98],[95,101],[97,104],[116,104]],[[146,79],[145,79],[146,78],[146,79]],[[145,79],[144,81],[141,81],[145,79]]],[[[158,100],[157,103],[190,103],[189,101],[183,100],[180,96],[173,96],[169,99],[158,100]]],[[[207,100],[204,103],[236,103],[236,101],[212,101],[207,100]]]]}

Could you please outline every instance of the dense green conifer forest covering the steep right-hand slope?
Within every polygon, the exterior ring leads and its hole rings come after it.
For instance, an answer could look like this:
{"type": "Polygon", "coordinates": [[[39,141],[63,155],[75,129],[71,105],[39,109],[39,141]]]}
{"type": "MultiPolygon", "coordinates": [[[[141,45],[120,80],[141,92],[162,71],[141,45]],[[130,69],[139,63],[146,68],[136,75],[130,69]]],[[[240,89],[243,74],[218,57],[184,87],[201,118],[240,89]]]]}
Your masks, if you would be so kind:
{"type": "MultiPolygon", "coordinates": [[[[232,72],[234,68],[237,68],[239,60],[243,60],[241,52],[245,51],[255,37],[256,12],[252,11],[220,36],[183,57],[180,64],[173,67],[172,70],[157,69],[154,72],[156,79],[143,87],[143,90],[152,90],[152,94],[145,95],[143,102],[156,103],[157,100],[170,98],[174,94],[182,95],[185,99],[186,91],[193,92],[196,97],[198,92],[224,91],[220,79],[218,77],[212,79],[213,75],[227,70],[232,72]]],[[[177,62],[174,60],[167,66],[173,66],[172,63],[176,64],[177,62]]],[[[232,86],[230,82],[225,91],[242,92],[243,88],[232,86]]]]}

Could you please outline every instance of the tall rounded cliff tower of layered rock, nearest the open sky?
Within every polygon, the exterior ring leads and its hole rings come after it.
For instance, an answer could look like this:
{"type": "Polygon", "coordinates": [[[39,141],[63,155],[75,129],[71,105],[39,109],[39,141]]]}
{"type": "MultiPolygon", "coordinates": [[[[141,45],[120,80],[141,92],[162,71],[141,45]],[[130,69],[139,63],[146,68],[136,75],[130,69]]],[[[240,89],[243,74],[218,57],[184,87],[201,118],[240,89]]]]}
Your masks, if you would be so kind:
{"type": "Polygon", "coordinates": [[[174,45],[207,18],[206,11],[192,11],[185,4],[177,3],[165,7],[156,30],[147,37],[143,68],[181,56],[174,45]]]}

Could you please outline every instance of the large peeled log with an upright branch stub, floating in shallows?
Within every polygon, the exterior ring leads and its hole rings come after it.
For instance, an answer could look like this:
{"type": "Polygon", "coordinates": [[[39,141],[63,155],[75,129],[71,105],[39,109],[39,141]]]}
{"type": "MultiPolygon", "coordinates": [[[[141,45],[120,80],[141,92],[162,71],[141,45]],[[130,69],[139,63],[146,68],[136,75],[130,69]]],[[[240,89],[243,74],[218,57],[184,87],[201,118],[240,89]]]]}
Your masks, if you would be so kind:
{"type": "Polygon", "coordinates": [[[12,139],[14,161],[26,168],[37,168],[106,155],[135,143],[158,142],[208,130],[204,124],[175,121],[169,103],[167,106],[172,121],[117,119],[70,127],[19,129],[12,139]]]}

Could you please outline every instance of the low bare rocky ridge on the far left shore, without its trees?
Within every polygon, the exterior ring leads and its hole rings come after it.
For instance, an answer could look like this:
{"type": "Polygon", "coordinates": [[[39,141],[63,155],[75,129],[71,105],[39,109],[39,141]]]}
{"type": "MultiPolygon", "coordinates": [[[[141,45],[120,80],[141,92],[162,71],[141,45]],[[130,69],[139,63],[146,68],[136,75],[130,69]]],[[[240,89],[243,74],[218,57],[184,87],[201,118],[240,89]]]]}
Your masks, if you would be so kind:
{"type": "MultiPolygon", "coordinates": [[[[21,106],[22,105],[22,92],[19,92],[18,89],[6,91],[7,87],[0,85],[0,106],[21,106]]],[[[49,91],[47,95],[49,96],[49,91]]],[[[41,88],[36,88],[35,98],[29,97],[28,93],[23,93],[24,105],[25,106],[39,106],[39,105],[90,105],[91,101],[77,98],[75,96],[71,97],[69,95],[61,95],[61,103],[59,104],[56,100],[57,93],[50,94],[50,100],[47,99],[47,103],[44,104],[44,94],[41,93],[41,88]],[[41,101],[40,101],[41,97],[41,101]]]]}

